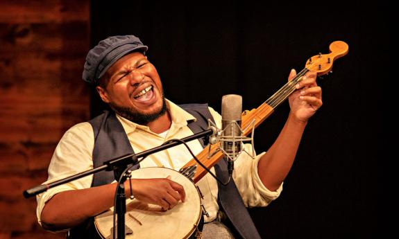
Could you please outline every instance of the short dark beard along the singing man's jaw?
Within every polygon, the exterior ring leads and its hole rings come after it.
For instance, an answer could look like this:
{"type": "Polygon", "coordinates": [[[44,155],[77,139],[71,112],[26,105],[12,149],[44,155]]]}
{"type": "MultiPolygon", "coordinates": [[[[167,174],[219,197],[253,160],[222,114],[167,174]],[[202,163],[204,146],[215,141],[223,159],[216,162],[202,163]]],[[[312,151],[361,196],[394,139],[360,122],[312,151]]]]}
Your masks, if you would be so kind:
{"type": "Polygon", "coordinates": [[[111,109],[114,110],[114,112],[117,112],[117,114],[119,114],[120,116],[127,118],[129,121],[132,121],[139,125],[147,125],[151,121],[155,121],[157,118],[159,118],[160,116],[164,115],[167,112],[167,104],[163,94],[162,94],[162,107],[157,112],[153,112],[151,114],[143,114],[141,112],[138,112],[133,107],[121,107],[118,105],[114,105],[113,103],[110,103],[110,107],[111,109]]]}

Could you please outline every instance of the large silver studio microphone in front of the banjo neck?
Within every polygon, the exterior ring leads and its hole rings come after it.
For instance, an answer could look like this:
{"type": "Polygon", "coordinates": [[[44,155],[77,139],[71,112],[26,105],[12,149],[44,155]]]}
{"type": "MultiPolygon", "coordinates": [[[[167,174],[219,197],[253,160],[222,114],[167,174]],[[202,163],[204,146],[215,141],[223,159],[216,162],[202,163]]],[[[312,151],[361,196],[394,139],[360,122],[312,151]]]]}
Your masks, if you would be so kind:
{"type": "Polygon", "coordinates": [[[242,97],[235,94],[223,96],[221,99],[222,143],[228,161],[228,174],[232,175],[234,160],[241,152],[242,130],[242,97]]]}

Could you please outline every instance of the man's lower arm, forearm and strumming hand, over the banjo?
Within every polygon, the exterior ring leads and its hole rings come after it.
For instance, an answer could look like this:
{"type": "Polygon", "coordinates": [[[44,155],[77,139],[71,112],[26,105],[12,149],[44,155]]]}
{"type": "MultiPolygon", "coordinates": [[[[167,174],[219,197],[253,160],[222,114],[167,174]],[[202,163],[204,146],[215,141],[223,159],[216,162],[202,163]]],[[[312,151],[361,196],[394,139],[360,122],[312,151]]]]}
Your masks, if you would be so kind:
{"type": "MultiPolygon", "coordinates": [[[[156,204],[167,210],[185,201],[183,186],[167,178],[131,179],[132,193],[143,203],[156,204]]],[[[125,195],[130,196],[126,181],[125,195]]],[[[63,191],[46,202],[40,219],[42,227],[53,231],[69,229],[113,206],[117,184],[63,191]]]]}

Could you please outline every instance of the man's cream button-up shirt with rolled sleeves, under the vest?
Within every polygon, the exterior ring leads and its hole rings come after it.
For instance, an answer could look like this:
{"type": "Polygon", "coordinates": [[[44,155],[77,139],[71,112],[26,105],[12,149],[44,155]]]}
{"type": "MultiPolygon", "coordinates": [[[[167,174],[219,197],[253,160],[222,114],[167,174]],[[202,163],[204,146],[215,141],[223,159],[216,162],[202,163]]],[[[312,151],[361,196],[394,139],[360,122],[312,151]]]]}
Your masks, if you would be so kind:
{"type": "MultiPolygon", "coordinates": [[[[130,144],[136,153],[154,148],[161,145],[169,139],[182,139],[190,136],[193,132],[187,127],[187,121],[195,119],[194,116],[185,112],[184,109],[178,107],[171,101],[167,100],[167,108],[171,114],[171,127],[167,132],[156,134],[144,125],[137,125],[126,118],[117,115],[121,122],[130,144]]],[[[214,109],[210,108],[210,112],[214,117],[217,126],[221,128],[221,116],[214,109]]],[[[198,154],[203,150],[198,140],[187,143],[189,148],[198,154]]],[[[71,127],[57,145],[57,148],[51,158],[49,165],[49,178],[44,183],[54,182],[58,179],[75,175],[78,172],[90,170],[93,168],[92,152],[94,149],[94,133],[90,123],[79,123],[71,127]]],[[[251,145],[246,145],[246,151],[251,152],[251,145]]],[[[277,191],[269,191],[262,184],[257,175],[257,163],[262,157],[257,155],[256,159],[252,159],[245,152],[241,153],[235,161],[235,169],[233,171],[233,179],[244,204],[249,207],[267,206],[272,200],[275,200],[282,191],[282,185],[277,191]]],[[[140,163],[141,168],[146,167],[166,167],[179,170],[189,160],[192,155],[188,152],[184,145],[178,145],[155,154],[151,154],[140,163]]],[[[214,173],[214,168],[211,169],[214,173]]],[[[89,175],[81,179],[62,184],[49,189],[45,193],[37,195],[37,220],[40,223],[40,215],[47,201],[62,191],[90,188],[93,176],[89,175]]],[[[205,222],[210,222],[217,217],[219,206],[217,204],[218,187],[217,181],[209,174],[205,175],[197,184],[204,195],[203,204],[210,214],[205,216],[205,222]]]]}

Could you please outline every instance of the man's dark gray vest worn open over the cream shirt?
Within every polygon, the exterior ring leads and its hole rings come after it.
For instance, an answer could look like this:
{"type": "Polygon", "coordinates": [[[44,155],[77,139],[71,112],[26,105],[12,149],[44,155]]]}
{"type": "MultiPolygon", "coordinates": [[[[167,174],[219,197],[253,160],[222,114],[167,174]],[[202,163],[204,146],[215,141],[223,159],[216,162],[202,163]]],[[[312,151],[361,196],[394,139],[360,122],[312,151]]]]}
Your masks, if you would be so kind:
{"type": "MultiPolygon", "coordinates": [[[[207,104],[188,104],[180,105],[180,107],[196,118],[196,121],[188,122],[188,127],[194,134],[207,129],[208,118],[214,121],[207,104]]],[[[105,111],[100,116],[93,118],[89,123],[94,130],[94,167],[102,166],[105,161],[110,159],[133,154],[134,151],[130,145],[128,136],[114,112],[105,111]]],[[[200,142],[204,147],[205,142],[203,139],[200,139],[200,142]]],[[[138,167],[137,165],[133,167],[133,169],[137,169],[138,167]]],[[[219,177],[222,182],[227,182],[228,170],[226,161],[220,160],[214,168],[217,177],[219,177]]],[[[101,186],[103,184],[109,184],[112,181],[114,181],[114,172],[102,171],[94,175],[92,186],[101,186]]],[[[235,237],[248,239],[260,238],[234,181],[230,180],[227,186],[218,183],[218,188],[221,209],[225,211],[232,226],[236,230],[232,230],[236,234],[235,237]]]]}

